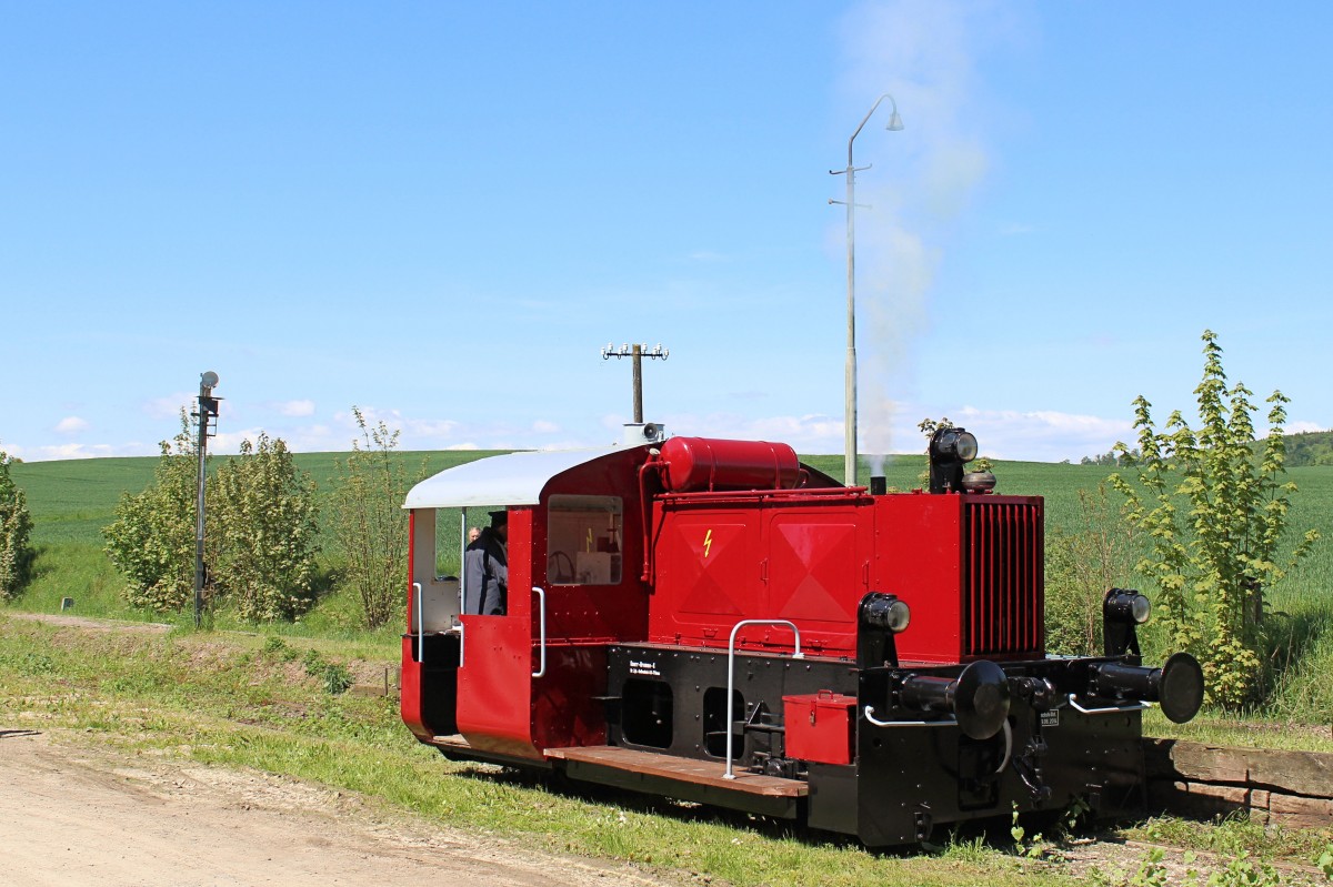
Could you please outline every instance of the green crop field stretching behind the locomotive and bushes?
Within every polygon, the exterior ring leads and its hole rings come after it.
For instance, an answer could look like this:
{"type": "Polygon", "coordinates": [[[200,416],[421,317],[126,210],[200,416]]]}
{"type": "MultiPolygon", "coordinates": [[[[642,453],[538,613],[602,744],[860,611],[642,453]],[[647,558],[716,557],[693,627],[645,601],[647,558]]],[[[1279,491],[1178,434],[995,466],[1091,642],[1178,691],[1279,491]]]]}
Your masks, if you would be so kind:
{"type": "MultiPolygon", "coordinates": [[[[468,462],[492,453],[393,453],[409,478],[421,478],[445,467],[468,462]]],[[[220,457],[225,459],[227,457],[220,457]]],[[[337,463],[345,453],[303,453],[296,463],[307,471],[321,494],[327,494],[337,477],[337,463]]],[[[804,461],[833,475],[842,474],[841,455],[806,455],[804,461]]],[[[101,529],[113,518],[117,501],[124,493],[136,493],[152,481],[157,459],[115,458],[73,459],[60,462],[33,462],[13,465],[11,471],[28,497],[33,515],[33,543],[37,549],[35,575],[16,599],[4,606],[11,610],[53,613],[63,598],[75,599],[75,613],[80,615],[124,619],[161,619],[160,615],[136,611],[123,597],[123,579],[103,553],[101,529]]],[[[213,465],[217,465],[215,459],[213,465]]],[[[925,469],[924,455],[892,457],[885,474],[890,489],[908,490],[921,486],[925,469]]],[[[869,477],[869,466],[862,461],[862,481],[869,477]]],[[[998,478],[997,493],[1014,495],[1042,495],[1046,503],[1048,543],[1057,530],[1084,529],[1080,491],[1093,491],[1104,482],[1109,469],[1096,465],[1064,465],[1045,462],[997,462],[993,467],[998,478]]],[[[1314,553],[1288,578],[1270,590],[1270,603],[1276,613],[1270,625],[1277,634],[1288,633],[1288,650],[1277,655],[1292,655],[1294,667],[1286,670],[1280,691],[1274,694],[1268,717],[1312,723],[1329,723],[1333,710],[1333,689],[1324,679],[1333,673],[1333,466],[1302,466],[1288,471],[1300,493],[1289,523],[1293,539],[1309,527],[1320,530],[1322,541],[1314,553]]],[[[1116,502],[1114,495],[1112,502],[1116,502]]],[[[457,521],[444,521],[445,533],[459,533],[457,521]]],[[[451,550],[452,543],[445,543],[451,550]]],[[[325,539],[321,562],[325,569],[336,569],[336,554],[331,539],[325,539]]],[[[1137,559],[1130,558],[1129,562],[1137,559]]],[[[452,565],[444,565],[451,569],[452,565]]],[[[456,569],[456,567],[452,567],[456,569]]],[[[1152,593],[1141,577],[1125,575],[1117,579],[1124,587],[1138,587],[1152,593]]],[[[176,619],[184,622],[187,617],[176,619]]],[[[337,591],[327,595],[299,623],[272,626],[284,634],[359,637],[356,602],[337,591]]],[[[227,613],[215,622],[219,627],[247,627],[236,623],[227,613]]],[[[1150,627],[1150,626],[1149,626],[1150,627]]],[[[399,626],[391,623],[368,638],[381,643],[385,658],[396,655],[395,643],[399,626]]],[[[1148,638],[1152,655],[1152,638],[1148,638]]],[[[1209,719],[1198,722],[1210,729],[1209,719]]],[[[1228,722],[1218,722],[1224,733],[1228,722]]],[[[1170,727],[1164,727],[1170,729],[1170,727]]],[[[1184,729],[1184,734],[1200,726],[1184,729]]]]}

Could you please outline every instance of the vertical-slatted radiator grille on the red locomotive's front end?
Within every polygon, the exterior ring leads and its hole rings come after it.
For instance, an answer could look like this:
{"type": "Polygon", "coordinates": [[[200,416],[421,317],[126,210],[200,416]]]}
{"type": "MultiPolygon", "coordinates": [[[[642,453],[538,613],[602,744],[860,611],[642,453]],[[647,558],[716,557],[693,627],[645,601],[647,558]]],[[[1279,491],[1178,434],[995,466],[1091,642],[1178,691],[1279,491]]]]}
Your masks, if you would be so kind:
{"type": "Polygon", "coordinates": [[[1044,538],[1040,502],[964,506],[962,654],[1041,655],[1044,538]]]}

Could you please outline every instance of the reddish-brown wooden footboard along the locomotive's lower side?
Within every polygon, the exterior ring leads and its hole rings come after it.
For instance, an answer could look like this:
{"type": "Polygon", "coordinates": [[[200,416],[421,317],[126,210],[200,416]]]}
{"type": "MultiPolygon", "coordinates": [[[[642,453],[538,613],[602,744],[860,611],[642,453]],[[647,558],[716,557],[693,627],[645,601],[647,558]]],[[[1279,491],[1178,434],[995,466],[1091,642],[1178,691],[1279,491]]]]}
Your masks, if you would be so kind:
{"type": "MultiPolygon", "coordinates": [[[[517,758],[473,748],[459,735],[435,737],[431,744],[448,758],[520,763],[517,758]]],[[[718,760],[677,758],[617,746],[547,748],[545,755],[548,766],[563,770],[571,779],[782,819],[797,818],[809,791],[809,784],[801,779],[764,776],[744,770],[737,770],[734,779],[724,779],[726,764],[718,760]]],[[[521,763],[532,766],[539,762],[524,759],[521,763]]]]}

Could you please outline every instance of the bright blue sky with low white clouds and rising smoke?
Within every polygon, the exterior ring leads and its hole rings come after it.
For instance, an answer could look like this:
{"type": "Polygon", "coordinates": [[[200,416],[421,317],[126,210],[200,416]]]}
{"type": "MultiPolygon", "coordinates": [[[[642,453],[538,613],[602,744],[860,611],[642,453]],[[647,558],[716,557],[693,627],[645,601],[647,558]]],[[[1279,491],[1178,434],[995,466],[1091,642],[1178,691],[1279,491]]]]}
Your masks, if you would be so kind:
{"type": "Polygon", "coordinates": [[[1321,3],[0,0],[0,447],[841,453],[948,416],[1058,461],[1233,381],[1333,424],[1321,3]]]}

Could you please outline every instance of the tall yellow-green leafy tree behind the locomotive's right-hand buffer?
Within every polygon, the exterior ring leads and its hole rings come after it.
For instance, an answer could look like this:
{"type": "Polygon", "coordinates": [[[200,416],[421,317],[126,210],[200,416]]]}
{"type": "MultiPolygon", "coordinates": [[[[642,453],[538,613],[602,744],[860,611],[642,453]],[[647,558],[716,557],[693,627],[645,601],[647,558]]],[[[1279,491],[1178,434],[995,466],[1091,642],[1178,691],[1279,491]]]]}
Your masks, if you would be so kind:
{"type": "Polygon", "coordinates": [[[1173,649],[1204,666],[1210,701],[1228,709],[1250,702],[1262,663],[1265,594],[1318,539],[1308,530],[1280,554],[1296,485],[1282,482],[1288,398],[1268,398],[1269,433],[1256,445],[1253,392],[1228,389],[1222,349],[1205,330],[1204,378],[1194,389],[1200,429],[1173,412],[1162,430],[1152,405],[1134,400],[1138,451],[1116,451],[1137,483],[1110,477],[1125,495],[1126,519],[1150,538],[1138,569],[1157,585],[1156,613],[1173,649]],[[1281,561],[1281,563],[1280,563],[1281,561]]]}

